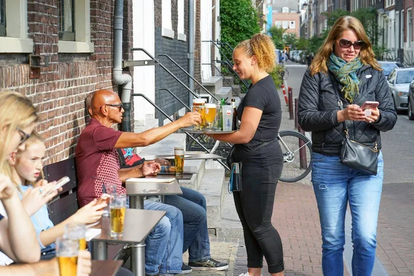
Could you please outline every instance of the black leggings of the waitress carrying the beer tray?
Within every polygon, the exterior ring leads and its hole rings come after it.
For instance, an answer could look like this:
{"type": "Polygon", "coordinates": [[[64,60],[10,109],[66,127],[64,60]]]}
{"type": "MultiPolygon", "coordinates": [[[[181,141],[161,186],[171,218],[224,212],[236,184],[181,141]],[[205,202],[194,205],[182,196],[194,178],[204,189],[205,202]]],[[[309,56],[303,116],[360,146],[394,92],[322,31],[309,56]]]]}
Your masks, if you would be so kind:
{"type": "Polygon", "coordinates": [[[242,221],[247,250],[247,267],[262,268],[266,258],[269,273],[284,270],[282,240],[272,225],[276,185],[283,164],[242,167],[242,192],[234,192],[235,206],[242,221]]]}

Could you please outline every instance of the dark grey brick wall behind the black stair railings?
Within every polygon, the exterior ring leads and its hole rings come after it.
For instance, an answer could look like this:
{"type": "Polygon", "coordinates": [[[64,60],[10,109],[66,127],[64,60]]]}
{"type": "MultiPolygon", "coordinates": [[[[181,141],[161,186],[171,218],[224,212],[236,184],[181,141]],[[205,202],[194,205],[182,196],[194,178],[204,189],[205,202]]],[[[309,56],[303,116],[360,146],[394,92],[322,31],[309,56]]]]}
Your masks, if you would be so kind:
{"type": "MultiPolygon", "coordinates": [[[[172,18],[172,30],[175,31],[174,39],[163,37],[161,35],[162,30],[162,10],[161,0],[155,0],[155,57],[159,54],[169,55],[175,60],[184,70],[188,71],[188,0],[184,1],[184,33],[187,36],[187,41],[181,41],[177,39],[177,25],[178,25],[178,10],[177,0],[171,1],[171,18],[172,18]]],[[[183,81],[188,86],[188,77],[182,72],[177,66],[170,62],[166,57],[158,57],[159,61],[183,81]]],[[[166,91],[159,91],[161,88],[168,88],[172,91],[179,99],[188,104],[188,90],[181,86],[174,78],[163,70],[160,66],[155,67],[155,104],[159,106],[168,115],[173,115],[179,109],[184,106],[172,97],[166,91]]],[[[162,124],[164,116],[158,110],[155,110],[155,117],[160,119],[159,122],[162,124]]]]}

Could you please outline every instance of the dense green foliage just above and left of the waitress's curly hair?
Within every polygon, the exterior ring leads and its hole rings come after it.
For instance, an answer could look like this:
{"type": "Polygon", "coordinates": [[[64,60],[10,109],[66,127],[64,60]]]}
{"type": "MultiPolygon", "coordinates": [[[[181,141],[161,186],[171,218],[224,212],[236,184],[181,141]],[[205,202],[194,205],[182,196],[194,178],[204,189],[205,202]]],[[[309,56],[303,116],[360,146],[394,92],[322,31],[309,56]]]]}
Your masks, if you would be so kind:
{"type": "Polygon", "coordinates": [[[220,1],[221,41],[232,47],[260,31],[257,14],[250,0],[220,1]]]}

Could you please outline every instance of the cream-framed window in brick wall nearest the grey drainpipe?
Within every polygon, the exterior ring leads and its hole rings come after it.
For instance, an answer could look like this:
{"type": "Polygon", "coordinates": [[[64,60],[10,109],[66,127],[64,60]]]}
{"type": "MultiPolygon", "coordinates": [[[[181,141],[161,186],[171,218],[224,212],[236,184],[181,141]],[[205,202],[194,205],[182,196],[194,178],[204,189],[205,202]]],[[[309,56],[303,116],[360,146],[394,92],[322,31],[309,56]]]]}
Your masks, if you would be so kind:
{"type": "Polygon", "coordinates": [[[60,53],[94,52],[90,42],[90,0],[58,0],[60,53]]]}

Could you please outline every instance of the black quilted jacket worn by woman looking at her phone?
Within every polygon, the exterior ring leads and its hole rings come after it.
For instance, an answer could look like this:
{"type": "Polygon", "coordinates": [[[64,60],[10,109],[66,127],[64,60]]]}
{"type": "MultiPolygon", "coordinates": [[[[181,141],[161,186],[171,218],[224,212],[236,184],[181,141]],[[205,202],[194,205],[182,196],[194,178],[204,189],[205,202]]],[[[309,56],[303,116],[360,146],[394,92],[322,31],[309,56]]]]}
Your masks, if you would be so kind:
{"type": "MultiPolygon", "coordinates": [[[[332,80],[335,77],[319,72],[311,77],[306,70],[299,92],[299,124],[305,131],[312,132],[312,148],[314,152],[323,155],[339,155],[344,140],[344,128],[337,121],[338,101],[335,86],[332,80]]],[[[361,80],[359,95],[353,103],[362,106],[364,101],[379,101],[380,118],[375,123],[367,124],[364,121],[346,121],[351,139],[366,146],[374,146],[377,142],[381,148],[380,131],[391,130],[397,121],[393,98],[388,89],[388,83],[382,72],[371,66],[362,66],[357,71],[361,80]]],[[[337,81],[337,87],[342,84],[337,81]]],[[[350,104],[344,99],[341,92],[344,108],[350,104]]]]}

